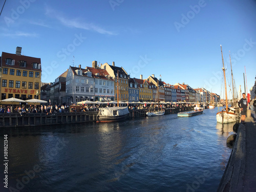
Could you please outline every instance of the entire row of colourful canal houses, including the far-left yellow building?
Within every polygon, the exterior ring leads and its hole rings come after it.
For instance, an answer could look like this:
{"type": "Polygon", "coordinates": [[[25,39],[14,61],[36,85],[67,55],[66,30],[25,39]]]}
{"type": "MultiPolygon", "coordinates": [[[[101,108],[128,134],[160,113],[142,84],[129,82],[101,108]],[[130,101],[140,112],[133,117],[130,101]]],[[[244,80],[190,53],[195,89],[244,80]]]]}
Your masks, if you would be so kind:
{"type": "MultiPolygon", "coordinates": [[[[71,67],[59,75],[54,82],[41,82],[40,58],[24,56],[22,48],[16,54],[2,53],[1,57],[1,100],[16,97],[23,100],[38,98],[49,104],[72,104],[83,100],[92,101],[169,101],[206,102],[210,92],[204,88],[192,89],[185,83],[165,83],[155,75],[147,78],[130,77],[122,68],[92,62],[92,67],[71,67]],[[118,94],[118,95],[117,95],[118,94]]],[[[218,100],[218,95],[215,94],[218,100]]]]}

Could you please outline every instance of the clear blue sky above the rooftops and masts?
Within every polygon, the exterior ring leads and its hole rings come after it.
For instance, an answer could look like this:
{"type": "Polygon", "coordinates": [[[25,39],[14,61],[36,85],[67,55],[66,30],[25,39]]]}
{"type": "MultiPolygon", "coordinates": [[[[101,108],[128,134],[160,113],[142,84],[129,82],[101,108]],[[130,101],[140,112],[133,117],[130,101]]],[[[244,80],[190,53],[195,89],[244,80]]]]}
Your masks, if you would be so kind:
{"type": "MultiPolygon", "coordinates": [[[[4,1],[1,1],[1,8],[4,1]]],[[[131,77],[155,74],[220,94],[222,58],[248,90],[256,75],[256,1],[7,0],[0,51],[41,58],[42,82],[92,61],[123,67],[131,77]]],[[[228,95],[231,93],[228,90],[228,95]]],[[[223,97],[223,94],[222,94],[223,97]]]]}

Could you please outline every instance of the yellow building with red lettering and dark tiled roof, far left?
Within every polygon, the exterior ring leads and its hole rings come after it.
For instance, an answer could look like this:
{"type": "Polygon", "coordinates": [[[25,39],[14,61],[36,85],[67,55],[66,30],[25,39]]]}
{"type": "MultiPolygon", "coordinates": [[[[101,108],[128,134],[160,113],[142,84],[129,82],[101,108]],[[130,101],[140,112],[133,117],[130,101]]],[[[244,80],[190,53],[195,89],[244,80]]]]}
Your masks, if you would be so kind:
{"type": "MultiPolygon", "coordinates": [[[[41,59],[2,52],[1,57],[1,100],[15,97],[22,100],[40,99],[41,59]]],[[[4,104],[4,103],[2,103],[4,104]]]]}

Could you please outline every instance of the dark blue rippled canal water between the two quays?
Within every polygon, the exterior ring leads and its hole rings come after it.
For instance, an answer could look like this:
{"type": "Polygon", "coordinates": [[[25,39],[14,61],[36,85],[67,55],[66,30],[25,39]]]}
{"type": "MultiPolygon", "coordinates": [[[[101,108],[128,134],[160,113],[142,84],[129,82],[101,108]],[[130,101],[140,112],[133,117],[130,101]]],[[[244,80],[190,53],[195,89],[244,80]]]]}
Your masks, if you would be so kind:
{"type": "Polygon", "coordinates": [[[2,152],[8,135],[6,191],[216,191],[233,134],[233,123],[216,122],[217,110],[2,129],[2,152]]]}

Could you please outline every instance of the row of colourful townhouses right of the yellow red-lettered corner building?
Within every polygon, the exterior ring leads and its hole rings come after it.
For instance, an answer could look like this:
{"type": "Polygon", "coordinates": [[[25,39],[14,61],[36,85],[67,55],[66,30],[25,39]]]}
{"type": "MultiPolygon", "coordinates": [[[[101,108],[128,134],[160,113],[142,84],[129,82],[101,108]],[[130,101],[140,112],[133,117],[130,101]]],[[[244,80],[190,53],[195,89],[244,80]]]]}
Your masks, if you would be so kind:
{"type": "Polygon", "coordinates": [[[41,97],[54,104],[111,101],[117,97],[125,102],[206,102],[207,99],[201,97],[206,90],[202,89],[194,90],[184,83],[170,85],[154,74],[145,79],[142,75],[139,79],[132,78],[122,67],[115,66],[115,62],[98,65],[93,61],[92,67],[84,69],[81,65],[78,68],[70,66],[53,84],[44,84],[41,97]]]}

